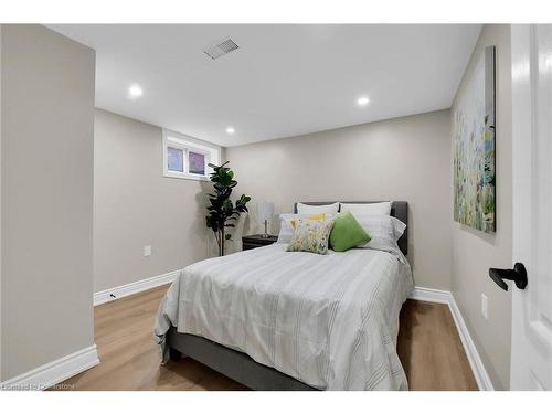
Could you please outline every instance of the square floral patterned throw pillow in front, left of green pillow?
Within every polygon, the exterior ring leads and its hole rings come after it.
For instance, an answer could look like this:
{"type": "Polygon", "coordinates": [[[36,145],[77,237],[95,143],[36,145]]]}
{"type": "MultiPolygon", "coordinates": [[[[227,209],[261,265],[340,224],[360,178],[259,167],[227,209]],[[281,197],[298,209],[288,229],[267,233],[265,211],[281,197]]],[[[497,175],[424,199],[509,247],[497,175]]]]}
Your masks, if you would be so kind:
{"type": "Polygon", "coordinates": [[[296,225],[287,245],[288,252],[328,253],[328,238],[333,219],[322,221],[298,219],[296,225]]]}

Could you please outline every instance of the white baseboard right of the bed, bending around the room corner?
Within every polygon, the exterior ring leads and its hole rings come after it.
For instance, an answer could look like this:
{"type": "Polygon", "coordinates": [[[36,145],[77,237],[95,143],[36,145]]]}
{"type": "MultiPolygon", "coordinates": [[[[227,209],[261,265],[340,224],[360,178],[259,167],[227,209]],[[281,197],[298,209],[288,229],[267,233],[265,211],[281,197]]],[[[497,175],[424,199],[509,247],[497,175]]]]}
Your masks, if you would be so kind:
{"type": "Polygon", "coordinates": [[[495,388],[492,386],[489,374],[485,369],[481,358],[477,352],[476,344],[474,343],[466,322],[464,321],[464,318],[460,314],[460,309],[456,305],[454,296],[450,294],[450,291],[416,286],[410,298],[414,300],[424,300],[435,304],[448,305],[450,314],[453,315],[454,322],[456,325],[456,329],[458,330],[461,344],[464,346],[464,350],[466,351],[466,355],[468,357],[469,365],[471,367],[471,371],[474,372],[474,376],[477,381],[477,386],[480,391],[493,391],[495,388]]]}

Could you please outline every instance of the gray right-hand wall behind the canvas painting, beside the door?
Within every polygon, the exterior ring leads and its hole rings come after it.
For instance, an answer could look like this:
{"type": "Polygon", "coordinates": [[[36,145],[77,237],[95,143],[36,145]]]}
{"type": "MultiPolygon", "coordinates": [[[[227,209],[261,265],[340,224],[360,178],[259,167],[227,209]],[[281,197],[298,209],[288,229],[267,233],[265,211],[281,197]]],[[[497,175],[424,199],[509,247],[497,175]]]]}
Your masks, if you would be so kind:
{"type": "MultiPolygon", "coordinates": [[[[489,267],[512,265],[512,153],[510,25],[485,25],[465,79],[487,45],[496,46],[497,232],[489,235],[453,222],[452,291],[496,389],[510,382],[511,293],[488,277],[489,267]],[[489,319],[481,314],[489,298],[489,319]]],[[[463,81],[453,107],[464,92],[463,81]]]]}

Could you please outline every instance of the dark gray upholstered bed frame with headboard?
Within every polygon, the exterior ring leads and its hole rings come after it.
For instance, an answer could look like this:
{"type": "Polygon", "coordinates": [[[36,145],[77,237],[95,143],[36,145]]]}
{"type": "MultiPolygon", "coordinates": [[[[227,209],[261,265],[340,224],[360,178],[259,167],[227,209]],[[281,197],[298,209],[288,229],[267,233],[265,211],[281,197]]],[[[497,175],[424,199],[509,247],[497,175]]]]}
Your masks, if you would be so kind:
{"type": "MultiPolygon", "coordinates": [[[[344,203],[346,201],[343,201],[344,203]]],[[[347,201],[348,203],[369,204],[378,201],[347,201]]],[[[332,204],[335,201],[304,202],[309,205],[332,204]]],[[[294,204],[297,212],[297,203],[294,204]]],[[[406,201],[394,201],[391,206],[391,215],[397,217],[406,225],[408,224],[408,203],[406,201]]],[[[399,240],[401,251],[407,253],[407,231],[399,240]]],[[[252,390],[258,391],[317,391],[274,368],[255,362],[243,352],[235,351],[209,339],[190,333],[179,333],[172,327],[167,332],[167,346],[170,358],[178,361],[183,357],[191,358],[202,364],[244,384],[252,390]]]]}

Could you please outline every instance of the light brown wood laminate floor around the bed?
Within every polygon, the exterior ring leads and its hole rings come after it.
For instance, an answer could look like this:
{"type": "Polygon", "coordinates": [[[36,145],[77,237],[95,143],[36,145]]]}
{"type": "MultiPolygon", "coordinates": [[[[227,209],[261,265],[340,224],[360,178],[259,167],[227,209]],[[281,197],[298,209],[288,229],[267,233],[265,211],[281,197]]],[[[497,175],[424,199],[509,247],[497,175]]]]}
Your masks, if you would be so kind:
{"type": "MultiPolygon", "coordinates": [[[[100,364],[55,389],[246,390],[191,359],[160,365],[152,327],[167,288],[97,306],[95,340],[100,364]]],[[[397,351],[411,390],[477,390],[446,305],[406,301],[401,311],[397,351]]]]}

